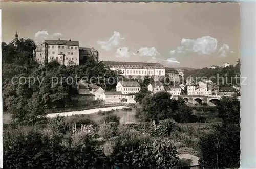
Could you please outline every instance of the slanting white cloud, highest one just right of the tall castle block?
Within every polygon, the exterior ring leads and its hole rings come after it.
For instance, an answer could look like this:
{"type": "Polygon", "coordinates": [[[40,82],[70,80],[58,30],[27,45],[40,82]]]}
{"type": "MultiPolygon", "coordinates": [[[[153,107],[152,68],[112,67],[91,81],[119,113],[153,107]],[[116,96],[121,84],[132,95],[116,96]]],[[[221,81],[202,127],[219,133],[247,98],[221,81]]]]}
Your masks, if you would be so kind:
{"type": "Polygon", "coordinates": [[[114,31],[114,34],[109,38],[108,41],[97,41],[97,44],[101,46],[101,49],[110,51],[112,46],[119,45],[119,40],[122,40],[119,32],[114,31]]]}

